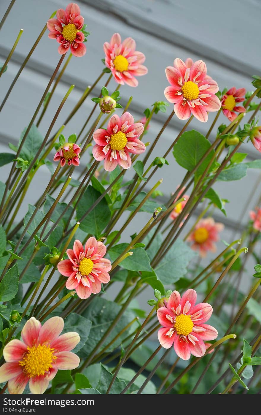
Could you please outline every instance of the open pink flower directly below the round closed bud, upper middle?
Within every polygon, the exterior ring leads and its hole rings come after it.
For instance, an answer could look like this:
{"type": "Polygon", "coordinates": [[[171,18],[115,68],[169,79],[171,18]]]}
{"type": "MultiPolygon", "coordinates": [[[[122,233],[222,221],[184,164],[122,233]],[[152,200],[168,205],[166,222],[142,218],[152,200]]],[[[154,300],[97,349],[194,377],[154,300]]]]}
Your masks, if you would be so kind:
{"type": "Polygon", "coordinates": [[[123,168],[129,168],[132,160],[129,153],[141,154],[146,147],[138,139],[143,132],[141,122],[135,122],[129,112],[121,117],[112,115],[107,129],[99,128],[93,134],[95,146],[93,157],[97,161],[104,160],[104,168],[107,171],[114,170],[119,164],[123,168]]]}

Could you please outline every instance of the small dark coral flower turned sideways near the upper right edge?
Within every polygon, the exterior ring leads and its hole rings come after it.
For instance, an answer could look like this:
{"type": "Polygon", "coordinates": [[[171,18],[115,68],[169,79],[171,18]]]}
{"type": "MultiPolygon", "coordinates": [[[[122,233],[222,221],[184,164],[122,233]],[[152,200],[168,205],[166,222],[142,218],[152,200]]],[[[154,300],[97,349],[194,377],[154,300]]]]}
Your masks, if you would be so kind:
{"type": "Polygon", "coordinates": [[[237,118],[236,112],[246,112],[246,108],[237,106],[237,103],[244,101],[246,95],[245,88],[236,89],[234,86],[230,88],[221,98],[222,111],[229,121],[237,118]],[[236,111],[236,112],[235,112],[236,111]]]}

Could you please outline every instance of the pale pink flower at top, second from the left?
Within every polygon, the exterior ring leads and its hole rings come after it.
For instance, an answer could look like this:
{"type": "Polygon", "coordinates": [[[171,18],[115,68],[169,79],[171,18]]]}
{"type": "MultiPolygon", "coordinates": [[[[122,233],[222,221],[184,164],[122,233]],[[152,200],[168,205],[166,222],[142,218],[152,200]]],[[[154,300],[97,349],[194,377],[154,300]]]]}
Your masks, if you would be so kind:
{"type": "Polygon", "coordinates": [[[148,69],[142,65],[145,61],[143,53],[136,51],[136,42],[127,37],[122,42],[119,33],[112,35],[109,42],[103,45],[105,51],[105,65],[110,68],[117,83],[137,86],[135,76],[146,75],[148,69]]]}

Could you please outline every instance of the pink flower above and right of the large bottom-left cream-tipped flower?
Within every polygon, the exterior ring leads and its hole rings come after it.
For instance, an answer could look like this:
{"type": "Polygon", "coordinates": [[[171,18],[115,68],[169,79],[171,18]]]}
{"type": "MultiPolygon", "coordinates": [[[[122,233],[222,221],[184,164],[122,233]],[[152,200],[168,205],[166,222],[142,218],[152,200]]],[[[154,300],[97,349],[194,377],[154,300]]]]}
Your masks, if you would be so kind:
{"type": "Polygon", "coordinates": [[[66,288],[76,290],[80,298],[100,293],[101,284],[110,281],[108,272],[112,268],[110,260],[103,258],[106,254],[105,245],[90,237],[83,248],[76,239],[73,249],[67,249],[66,253],[69,259],[64,259],[57,266],[62,275],[69,277],[66,288]]]}

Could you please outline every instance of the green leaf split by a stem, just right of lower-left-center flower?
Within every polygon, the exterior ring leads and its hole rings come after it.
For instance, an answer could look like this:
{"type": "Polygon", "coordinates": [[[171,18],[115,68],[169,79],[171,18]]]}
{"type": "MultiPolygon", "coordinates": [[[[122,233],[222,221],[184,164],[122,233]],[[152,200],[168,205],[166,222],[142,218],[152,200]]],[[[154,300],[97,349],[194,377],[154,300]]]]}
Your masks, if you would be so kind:
{"type": "MultiPolygon", "coordinates": [[[[112,261],[118,258],[118,256],[126,249],[128,244],[119,244],[112,247],[109,251],[110,258],[112,261]]],[[[131,250],[131,249],[130,249],[131,250]]],[[[149,256],[144,250],[144,248],[135,248],[133,249],[133,255],[128,256],[124,259],[120,266],[130,271],[151,271],[151,266],[149,263],[149,256]]]]}

